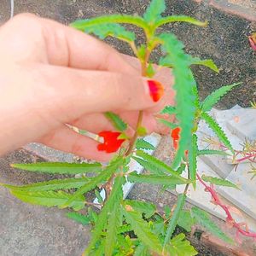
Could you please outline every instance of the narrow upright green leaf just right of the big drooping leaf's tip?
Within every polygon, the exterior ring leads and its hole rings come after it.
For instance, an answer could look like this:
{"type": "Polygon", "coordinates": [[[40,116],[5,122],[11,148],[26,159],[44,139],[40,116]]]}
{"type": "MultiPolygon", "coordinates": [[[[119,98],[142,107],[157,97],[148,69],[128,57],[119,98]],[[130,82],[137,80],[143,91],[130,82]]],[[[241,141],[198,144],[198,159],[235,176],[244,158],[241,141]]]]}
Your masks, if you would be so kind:
{"type": "Polygon", "coordinates": [[[197,137],[193,134],[192,137],[192,145],[189,147],[189,177],[192,180],[193,186],[195,188],[195,180],[196,180],[196,166],[197,166],[197,137]]]}

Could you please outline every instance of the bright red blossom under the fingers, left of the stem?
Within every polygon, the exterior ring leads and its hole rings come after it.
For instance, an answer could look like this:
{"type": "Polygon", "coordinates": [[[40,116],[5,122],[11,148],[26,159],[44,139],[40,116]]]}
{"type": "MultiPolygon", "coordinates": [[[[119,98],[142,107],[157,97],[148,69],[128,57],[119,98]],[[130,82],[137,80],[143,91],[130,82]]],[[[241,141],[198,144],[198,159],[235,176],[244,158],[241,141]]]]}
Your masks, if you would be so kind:
{"type": "Polygon", "coordinates": [[[104,143],[97,146],[99,151],[106,151],[106,153],[116,152],[125,142],[124,139],[118,139],[121,132],[119,131],[101,131],[98,136],[104,138],[104,143]]]}

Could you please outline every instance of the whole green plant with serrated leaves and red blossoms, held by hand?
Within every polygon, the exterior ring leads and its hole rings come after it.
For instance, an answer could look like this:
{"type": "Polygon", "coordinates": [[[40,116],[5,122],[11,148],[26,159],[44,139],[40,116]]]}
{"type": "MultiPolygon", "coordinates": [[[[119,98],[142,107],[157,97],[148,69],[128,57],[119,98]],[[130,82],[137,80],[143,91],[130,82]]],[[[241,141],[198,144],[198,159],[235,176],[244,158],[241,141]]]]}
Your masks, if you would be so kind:
{"type": "Polygon", "coordinates": [[[172,138],[175,148],[175,156],[172,166],[147,154],[143,149],[154,147],[143,140],[145,129],[142,127],[143,111],[137,119],[137,131],[133,137],[125,134],[127,125],[116,113],[106,113],[116,131],[102,131],[99,135],[111,142],[111,148],[107,144],[100,144],[99,150],[107,152],[117,151],[108,166],[100,163],[93,164],[67,164],[67,163],[38,163],[38,164],[14,164],[29,172],[47,172],[50,174],[76,175],[90,172],[89,177],[65,177],[53,179],[43,183],[32,183],[24,186],[3,184],[10,192],[22,201],[45,207],[72,208],[74,212],[67,213],[68,218],[81,224],[91,224],[93,227],[90,244],[84,251],[84,255],[196,255],[185,235],[174,235],[177,224],[190,231],[191,225],[199,223],[215,236],[227,242],[232,239],[225,235],[214,224],[207,214],[197,207],[191,211],[184,211],[183,205],[189,185],[196,189],[197,180],[205,186],[207,192],[212,194],[216,204],[223,207],[228,215],[228,221],[233,221],[237,232],[244,236],[256,235],[247,230],[242,230],[241,225],[236,224],[231,217],[228,207],[218,199],[213,189],[213,184],[236,187],[222,179],[213,177],[200,177],[197,173],[196,158],[200,154],[224,154],[218,150],[198,150],[197,125],[201,119],[216,133],[219,141],[234,153],[234,150],[225,136],[224,131],[214,119],[207,113],[219,98],[238,84],[231,84],[214,91],[203,101],[199,101],[197,86],[190,69],[191,65],[204,65],[218,72],[218,67],[212,60],[203,60],[192,57],[184,52],[183,44],[172,33],[159,32],[158,28],[170,22],[188,22],[196,26],[207,26],[207,22],[201,22],[188,16],[167,16],[161,14],[166,9],[164,0],[153,0],[148,6],[143,17],[131,15],[110,15],[97,17],[90,20],[78,20],[71,26],[83,31],[95,34],[99,38],[118,38],[130,44],[131,49],[141,62],[142,75],[152,77],[155,73],[151,65],[150,55],[152,51],[160,47],[162,57],[159,65],[172,67],[175,77],[176,106],[166,106],[162,113],[175,114],[177,124],[172,124],[160,119],[163,124],[171,126],[172,138]],[[143,29],[146,42],[137,45],[136,34],[126,30],[120,24],[131,24],[143,29]],[[139,138],[140,137],[140,138],[139,138]],[[125,142],[126,143],[123,143],[125,142]],[[148,174],[137,174],[129,169],[129,163],[136,160],[148,170],[148,174]],[[187,172],[187,177],[182,173],[187,172]],[[177,184],[185,184],[183,194],[177,195],[177,203],[172,209],[165,207],[165,212],[160,212],[154,204],[144,201],[131,201],[123,198],[122,186],[126,181],[132,183],[160,184],[165,188],[177,184]],[[208,186],[207,183],[211,183],[208,186]],[[98,189],[104,188],[106,198],[102,198],[98,189]],[[70,190],[72,189],[72,190],[70,190]],[[84,194],[95,189],[98,203],[86,201],[84,194]],[[87,214],[78,211],[87,208],[87,214]],[[93,207],[100,207],[96,213],[93,207]]]}

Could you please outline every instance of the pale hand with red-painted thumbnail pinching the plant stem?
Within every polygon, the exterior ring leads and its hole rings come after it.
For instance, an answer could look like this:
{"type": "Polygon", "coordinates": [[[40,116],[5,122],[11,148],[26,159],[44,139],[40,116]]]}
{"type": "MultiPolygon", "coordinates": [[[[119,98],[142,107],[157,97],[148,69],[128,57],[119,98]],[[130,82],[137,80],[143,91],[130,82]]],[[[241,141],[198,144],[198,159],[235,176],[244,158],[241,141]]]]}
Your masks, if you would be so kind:
{"type": "Polygon", "coordinates": [[[104,112],[125,119],[132,133],[139,110],[143,125],[157,131],[154,113],[173,103],[172,76],[154,79],[165,86],[159,102],[133,58],[71,27],[35,15],[17,15],[0,27],[0,155],[31,142],[95,160],[113,154],[66,124],[98,133],[113,131],[104,112]]]}

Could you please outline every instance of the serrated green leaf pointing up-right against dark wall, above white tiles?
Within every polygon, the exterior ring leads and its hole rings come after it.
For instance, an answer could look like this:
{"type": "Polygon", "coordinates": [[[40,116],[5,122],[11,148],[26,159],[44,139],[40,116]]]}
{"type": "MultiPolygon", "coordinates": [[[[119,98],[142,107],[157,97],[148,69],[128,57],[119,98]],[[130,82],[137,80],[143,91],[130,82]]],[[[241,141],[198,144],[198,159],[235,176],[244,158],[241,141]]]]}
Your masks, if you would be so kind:
{"type": "Polygon", "coordinates": [[[215,105],[222,96],[232,90],[235,86],[241,83],[230,84],[220,87],[218,90],[214,90],[207,98],[201,103],[202,111],[209,111],[215,105]]]}

